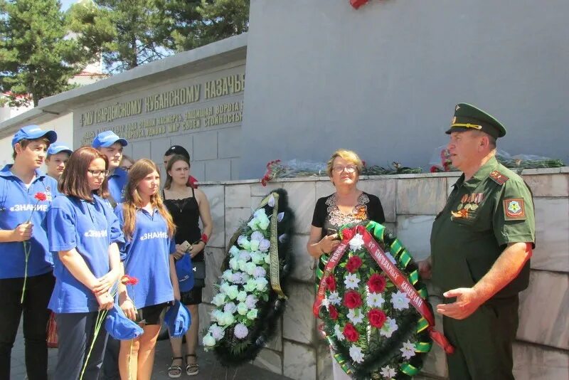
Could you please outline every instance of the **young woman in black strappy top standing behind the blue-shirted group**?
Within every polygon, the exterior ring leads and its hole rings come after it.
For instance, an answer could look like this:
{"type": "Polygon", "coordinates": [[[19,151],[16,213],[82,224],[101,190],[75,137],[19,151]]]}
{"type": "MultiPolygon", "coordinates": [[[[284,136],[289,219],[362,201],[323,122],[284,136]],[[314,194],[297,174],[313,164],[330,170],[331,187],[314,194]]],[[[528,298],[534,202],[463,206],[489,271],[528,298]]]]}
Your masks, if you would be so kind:
{"type": "MultiPolygon", "coordinates": [[[[176,224],[176,259],[185,254],[191,255],[195,263],[203,261],[203,248],[206,246],[205,234],[211,236],[212,222],[206,194],[200,189],[187,186],[190,175],[190,163],[181,155],[172,157],[166,166],[166,183],[164,184],[164,204],[171,213],[176,224]],[[203,231],[200,231],[198,221],[201,219],[203,231]],[[205,240],[205,241],[204,241],[205,240]],[[181,244],[187,241],[191,248],[184,251],[181,244]]],[[[198,374],[199,367],[196,357],[198,346],[199,315],[198,305],[201,303],[201,287],[193,287],[188,292],[181,292],[181,302],[188,306],[191,314],[191,327],[186,332],[186,374],[193,376],[198,374]]],[[[182,357],[182,341],[180,338],[170,338],[172,346],[172,364],[168,368],[168,376],[178,378],[181,376],[184,364],[182,357]]]]}

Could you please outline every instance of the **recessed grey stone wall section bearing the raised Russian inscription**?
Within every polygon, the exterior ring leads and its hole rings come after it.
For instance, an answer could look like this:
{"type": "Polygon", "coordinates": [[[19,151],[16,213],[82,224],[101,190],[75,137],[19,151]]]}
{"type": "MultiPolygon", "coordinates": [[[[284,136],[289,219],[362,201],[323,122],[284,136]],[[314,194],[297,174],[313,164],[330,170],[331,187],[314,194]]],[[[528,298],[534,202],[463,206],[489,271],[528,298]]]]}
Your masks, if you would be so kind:
{"type": "Polygon", "coordinates": [[[134,159],[162,163],[178,144],[191,154],[192,175],[201,181],[237,179],[243,120],[245,63],[167,78],[74,110],[74,147],[91,144],[105,130],[128,140],[134,159]]]}

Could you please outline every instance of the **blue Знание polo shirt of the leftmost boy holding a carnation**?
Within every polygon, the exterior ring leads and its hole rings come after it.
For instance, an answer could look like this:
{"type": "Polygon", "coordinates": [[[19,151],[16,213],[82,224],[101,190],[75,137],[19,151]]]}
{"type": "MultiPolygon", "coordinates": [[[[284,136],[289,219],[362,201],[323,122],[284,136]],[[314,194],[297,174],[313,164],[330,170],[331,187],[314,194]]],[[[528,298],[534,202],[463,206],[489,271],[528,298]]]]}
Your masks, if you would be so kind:
{"type": "MultiPolygon", "coordinates": [[[[59,194],[58,183],[36,170],[36,178],[26,187],[10,171],[11,167],[6,165],[0,171],[0,230],[13,230],[31,216],[32,236],[26,241],[28,277],[43,275],[53,269],[45,219],[51,202],[59,194]],[[46,194],[45,201],[34,198],[38,192],[46,194]]],[[[21,241],[0,243],[0,278],[23,278],[25,267],[26,253],[21,241]]]]}

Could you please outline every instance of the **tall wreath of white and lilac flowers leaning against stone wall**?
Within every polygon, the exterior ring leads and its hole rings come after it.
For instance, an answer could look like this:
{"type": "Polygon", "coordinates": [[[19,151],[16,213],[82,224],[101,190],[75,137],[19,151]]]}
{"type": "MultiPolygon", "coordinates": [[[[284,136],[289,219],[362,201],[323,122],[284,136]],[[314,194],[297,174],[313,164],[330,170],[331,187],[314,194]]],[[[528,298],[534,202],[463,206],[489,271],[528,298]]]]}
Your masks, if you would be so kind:
{"type": "Polygon", "coordinates": [[[294,216],[283,189],[272,191],[230,241],[211,324],[203,347],[223,365],[255,359],[272,337],[285,309],[283,288],[292,271],[290,236],[294,216]]]}

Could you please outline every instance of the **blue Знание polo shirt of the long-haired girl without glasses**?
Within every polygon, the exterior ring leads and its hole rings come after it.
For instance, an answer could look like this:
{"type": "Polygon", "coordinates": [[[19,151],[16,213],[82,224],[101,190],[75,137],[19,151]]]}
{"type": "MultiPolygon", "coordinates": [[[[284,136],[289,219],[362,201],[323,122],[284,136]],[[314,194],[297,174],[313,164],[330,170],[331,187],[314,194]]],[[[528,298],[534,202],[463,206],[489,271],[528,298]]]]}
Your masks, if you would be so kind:
{"type": "MultiPolygon", "coordinates": [[[[115,213],[122,228],[123,205],[115,213]]],[[[157,209],[150,214],[137,209],[132,238],[119,244],[124,274],[137,278],[137,285],[127,285],[129,297],[137,309],[174,300],[170,280],[169,255],[176,252],[174,239],[168,236],[168,226],[157,209]]]]}

